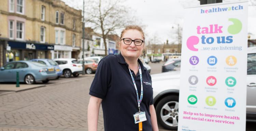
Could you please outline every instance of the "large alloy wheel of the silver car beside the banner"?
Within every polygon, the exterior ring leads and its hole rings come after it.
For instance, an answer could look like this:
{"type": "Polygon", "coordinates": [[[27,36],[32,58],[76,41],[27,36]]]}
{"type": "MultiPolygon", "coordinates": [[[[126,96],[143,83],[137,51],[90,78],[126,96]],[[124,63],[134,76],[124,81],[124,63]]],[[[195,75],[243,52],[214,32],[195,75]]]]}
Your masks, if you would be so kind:
{"type": "Polygon", "coordinates": [[[156,106],[158,123],[168,130],[178,129],[179,96],[171,95],[162,98],[156,106]]]}

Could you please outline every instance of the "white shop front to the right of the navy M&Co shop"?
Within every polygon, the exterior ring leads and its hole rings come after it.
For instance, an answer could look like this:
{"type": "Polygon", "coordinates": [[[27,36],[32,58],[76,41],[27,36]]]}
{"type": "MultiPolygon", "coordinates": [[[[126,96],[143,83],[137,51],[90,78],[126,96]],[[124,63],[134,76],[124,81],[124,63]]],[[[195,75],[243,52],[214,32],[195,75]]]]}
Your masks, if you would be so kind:
{"type": "Polygon", "coordinates": [[[71,58],[73,48],[66,45],[54,45],[54,51],[51,51],[52,59],[71,58]]]}

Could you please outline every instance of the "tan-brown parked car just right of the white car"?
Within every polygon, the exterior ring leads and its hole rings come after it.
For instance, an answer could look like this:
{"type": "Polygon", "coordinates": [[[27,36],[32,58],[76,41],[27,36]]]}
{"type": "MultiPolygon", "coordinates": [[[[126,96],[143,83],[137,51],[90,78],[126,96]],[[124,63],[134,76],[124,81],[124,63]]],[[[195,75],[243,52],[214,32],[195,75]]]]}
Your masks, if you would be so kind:
{"type": "MultiPolygon", "coordinates": [[[[78,62],[80,64],[83,64],[83,59],[79,59],[78,62]]],[[[84,70],[86,74],[92,74],[95,73],[98,67],[98,63],[96,63],[95,60],[86,59],[84,60],[84,70]]]]}

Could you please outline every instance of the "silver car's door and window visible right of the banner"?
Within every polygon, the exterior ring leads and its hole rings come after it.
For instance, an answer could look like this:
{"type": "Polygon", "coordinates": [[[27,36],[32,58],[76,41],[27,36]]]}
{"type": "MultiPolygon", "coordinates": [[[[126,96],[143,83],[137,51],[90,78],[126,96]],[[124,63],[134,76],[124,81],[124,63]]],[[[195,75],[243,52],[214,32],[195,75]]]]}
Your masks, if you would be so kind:
{"type": "Polygon", "coordinates": [[[247,56],[247,112],[256,112],[256,53],[247,56]]]}

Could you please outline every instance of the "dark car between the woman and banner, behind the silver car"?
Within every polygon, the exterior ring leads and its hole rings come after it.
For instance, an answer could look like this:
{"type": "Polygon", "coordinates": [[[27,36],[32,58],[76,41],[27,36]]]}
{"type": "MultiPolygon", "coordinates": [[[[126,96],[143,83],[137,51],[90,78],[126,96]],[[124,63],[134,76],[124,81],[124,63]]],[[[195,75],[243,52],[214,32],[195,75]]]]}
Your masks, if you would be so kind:
{"type": "Polygon", "coordinates": [[[174,68],[181,66],[181,59],[169,59],[163,64],[162,72],[173,71],[174,68]]]}

